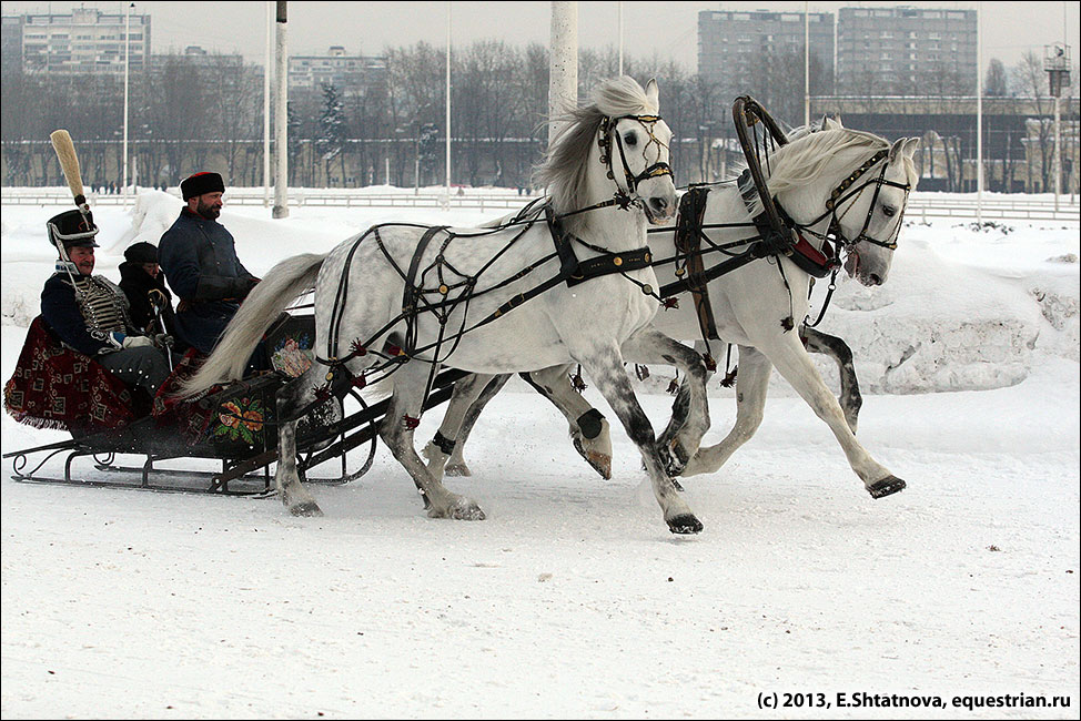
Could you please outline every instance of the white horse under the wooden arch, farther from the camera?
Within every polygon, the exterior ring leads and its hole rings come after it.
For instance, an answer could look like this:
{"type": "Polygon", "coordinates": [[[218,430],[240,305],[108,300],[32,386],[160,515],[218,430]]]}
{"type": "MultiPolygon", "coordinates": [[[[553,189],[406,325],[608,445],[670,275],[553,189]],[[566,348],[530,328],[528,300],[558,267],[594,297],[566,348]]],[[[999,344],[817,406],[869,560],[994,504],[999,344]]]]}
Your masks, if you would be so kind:
{"type": "MultiPolygon", "coordinates": [[[[810,246],[820,251],[829,233],[847,251],[845,268],[852,277],[869,286],[885,283],[908,195],[918,181],[912,154],[919,139],[902,139],[890,145],[885,139],[846,130],[836,122],[826,124],[822,132],[795,136],[797,140],[778,149],[771,159],[768,169],[770,193],[795,220],[795,227],[810,246]]],[[[746,223],[760,211],[760,200],[748,210],[735,185],[710,189],[703,225],[714,248],[726,246],[730,251],[728,244],[747,237],[746,229],[733,225],[746,223]]],[[[674,233],[650,231],[649,247],[660,283],[675,283],[678,280],[676,264],[668,262],[676,255],[674,233]]],[[[714,254],[713,261],[705,261],[707,271],[710,265],[727,260],[717,255],[714,254]]],[[[728,436],[716,446],[700,448],[683,469],[683,475],[716,471],[750,439],[761,424],[767,383],[776,365],[829,425],[872,497],[881,498],[905,487],[903,480],[876,461],[856,440],[856,408],[840,407],[794,331],[807,315],[810,282],[810,275],[784,255],[754,261],[709,282],[718,334],[739,346],[737,416],[728,436]]],[[[700,337],[694,304],[688,295],[680,299],[683,303],[678,308],[658,313],[654,326],[676,338],[700,337]]],[[[810,335],[811,343],[818,344],[816,347],[828,343],[829,336],[810,335]]],[[[851,358],[839,359],[839,364],[846,362],[850,364],[851,358]]],[[[567,378],[567,368],[548,368],[532,374],[531,382],[543,389],[568,418],[575,447],[604,475],[610,464],[607,428],[598,423],[599,414],[589,409],[567,378]]],[[[488,380],[483,395],[485,402],[505,382],[505,378],[488,380]]],[[[469,473],[462,457],[465,435],[459,428],[466,433],[472,428],[479,407],[466,409],[463,404],[464,398],[452,398],[440,434],[425,448],[433,473],[440,473],[444,464],[448,464],[447,468],[453,473],[469,473]],[[454,443],[455,438],[459,441],[454,443]]],[[[686,413],[686,400],[677,400],[674,410],[673,423],[661,439],[679,427],[680,416],[686,413]]]]}

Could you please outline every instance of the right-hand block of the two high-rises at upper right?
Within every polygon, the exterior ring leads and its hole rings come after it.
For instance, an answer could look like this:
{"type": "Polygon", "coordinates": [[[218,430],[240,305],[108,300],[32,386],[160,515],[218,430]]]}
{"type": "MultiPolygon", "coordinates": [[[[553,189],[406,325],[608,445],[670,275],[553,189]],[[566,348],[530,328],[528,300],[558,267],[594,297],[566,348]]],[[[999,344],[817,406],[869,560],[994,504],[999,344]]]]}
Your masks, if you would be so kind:
{"type": "Polygon", "coordinates": [[[976,10],[841,8],[837,91],[863,95],[974,92],[976,33],[976,10]]]}

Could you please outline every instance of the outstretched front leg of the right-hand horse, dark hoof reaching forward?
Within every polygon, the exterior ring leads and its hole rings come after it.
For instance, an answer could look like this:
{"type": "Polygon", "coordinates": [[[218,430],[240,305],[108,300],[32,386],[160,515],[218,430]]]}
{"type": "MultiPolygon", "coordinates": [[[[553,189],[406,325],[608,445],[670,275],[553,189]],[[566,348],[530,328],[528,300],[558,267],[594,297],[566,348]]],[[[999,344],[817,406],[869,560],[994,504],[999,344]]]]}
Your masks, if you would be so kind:
{"type": "Polygon", "coordinates": [[[848,427],[848,422],[845,420],[840,404],[818,375],[797,334],[786,333],[756,339],[755,345],[777,366],[785,379],[818,417],[829,425],[845,450],[852,470],[863,481],[863,486],[873,498],[882,498],[905,488],[905,481],[875,460],[856,439],[852,429],[848,427]]]}

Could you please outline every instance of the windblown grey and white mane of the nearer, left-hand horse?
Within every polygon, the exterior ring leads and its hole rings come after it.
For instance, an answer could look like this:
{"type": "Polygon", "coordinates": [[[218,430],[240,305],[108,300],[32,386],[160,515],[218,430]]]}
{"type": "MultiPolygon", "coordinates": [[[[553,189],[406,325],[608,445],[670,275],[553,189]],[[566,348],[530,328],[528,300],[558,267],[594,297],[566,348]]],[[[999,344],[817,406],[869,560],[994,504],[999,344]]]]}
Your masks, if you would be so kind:
{"type": "Polygon", "coordinates": [[[566,123],[548,146],[535,182],[548,187],[556,213],[584,205],[589,153],[597,142],[600,121],[620,115],[656,114],[658,108],[633,78],[622,75],[603,83],[588,105],[569,110],[550,122],[566,123]]]}

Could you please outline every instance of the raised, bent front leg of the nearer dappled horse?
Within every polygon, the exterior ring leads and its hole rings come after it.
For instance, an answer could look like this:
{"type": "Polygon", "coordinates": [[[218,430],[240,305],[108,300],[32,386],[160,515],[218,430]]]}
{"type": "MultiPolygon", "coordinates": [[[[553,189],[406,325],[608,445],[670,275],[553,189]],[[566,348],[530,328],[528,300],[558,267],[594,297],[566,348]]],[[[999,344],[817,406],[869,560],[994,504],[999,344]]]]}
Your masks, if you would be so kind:
{"type": "Polygon", "coordinates": [[[684,372],[687,386],[686,422],[679,424],[675,436],[666,445],[675,453],[674,458],[669,456],[675,463],[667,470],[671,475],[678,475],[698,451],[703,436],[709,430],[706,363],[696,351],[653,328],[639,331],[628,338],[623,345],[623,352],[635,362],[674,365],[684,372]]]}

